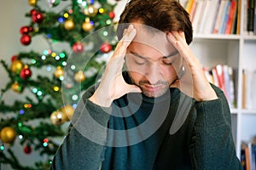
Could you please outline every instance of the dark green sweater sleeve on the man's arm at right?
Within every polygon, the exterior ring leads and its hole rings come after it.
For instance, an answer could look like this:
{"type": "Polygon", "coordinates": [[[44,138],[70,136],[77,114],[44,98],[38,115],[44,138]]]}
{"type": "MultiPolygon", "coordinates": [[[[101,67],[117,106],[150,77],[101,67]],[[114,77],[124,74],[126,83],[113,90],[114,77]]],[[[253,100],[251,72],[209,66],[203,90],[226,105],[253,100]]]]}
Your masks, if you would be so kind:
{"type": "Polygon", "coordinates": [[[241,169],[224,94],[195,105],[195,141],[190,150],[195,169],[241,169]]]}

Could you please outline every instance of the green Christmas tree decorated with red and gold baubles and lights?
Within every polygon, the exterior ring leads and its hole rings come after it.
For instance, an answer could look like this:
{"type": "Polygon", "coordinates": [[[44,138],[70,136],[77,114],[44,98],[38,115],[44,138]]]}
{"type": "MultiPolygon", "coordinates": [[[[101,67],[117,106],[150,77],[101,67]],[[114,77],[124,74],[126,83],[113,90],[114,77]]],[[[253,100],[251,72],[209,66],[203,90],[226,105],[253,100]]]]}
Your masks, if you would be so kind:
{"type": "Polygon", "coordinates": [[[49,48],[17,52],[9,57],[11,65],[1,60],[9,82],[0,92],[0,166],[49,169],[81,94],[101,77],[116,46],[116,2],[28,0],[28,4],[31,10],[25,17],[31,22],[20,26],[20,43],[29,46],[40,36],[49,48]],[[9,90],[17,95],[13,105],[3,100],[9,90]],[[32,166],[23,165],[15,155],[15,142],[25,155],[37,151],[42,157],[32,166]]]}

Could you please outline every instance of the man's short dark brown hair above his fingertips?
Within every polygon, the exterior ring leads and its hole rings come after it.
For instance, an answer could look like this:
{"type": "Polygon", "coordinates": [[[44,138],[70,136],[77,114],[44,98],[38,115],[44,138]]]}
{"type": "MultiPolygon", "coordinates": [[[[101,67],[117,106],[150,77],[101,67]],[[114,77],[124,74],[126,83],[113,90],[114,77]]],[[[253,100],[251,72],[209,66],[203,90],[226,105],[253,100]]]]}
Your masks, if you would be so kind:
{"type": "Polygon", "coordinates": [[[120,15],[119,40],[129,23],[136,20],[160,31],[183,31],[188,44],[193,40],[189,14],[177,0],[131,0],[120,15]]]}

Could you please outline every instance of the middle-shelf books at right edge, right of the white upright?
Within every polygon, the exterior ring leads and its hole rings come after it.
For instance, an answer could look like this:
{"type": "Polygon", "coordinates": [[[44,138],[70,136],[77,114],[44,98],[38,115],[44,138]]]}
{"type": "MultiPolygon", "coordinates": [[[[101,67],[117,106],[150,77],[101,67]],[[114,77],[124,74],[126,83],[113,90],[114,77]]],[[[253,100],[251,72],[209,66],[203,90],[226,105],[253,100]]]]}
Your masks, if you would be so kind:
{"type": "Polygon", "coordinates": [[[256,71],[243,69],[242,71],[242,108],[256,109],[256,71]]]}

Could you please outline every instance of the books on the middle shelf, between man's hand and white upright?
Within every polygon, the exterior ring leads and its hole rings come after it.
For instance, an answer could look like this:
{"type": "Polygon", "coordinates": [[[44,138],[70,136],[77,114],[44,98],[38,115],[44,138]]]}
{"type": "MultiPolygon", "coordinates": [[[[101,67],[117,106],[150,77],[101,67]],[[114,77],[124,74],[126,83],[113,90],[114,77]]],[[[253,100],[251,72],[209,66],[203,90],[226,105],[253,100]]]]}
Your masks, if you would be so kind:
{"type": "Polygon", "coordinates": [[[222,89],[230,108],[236,108],[235,70],[229,65],[216,65],[211,69],[206,67],[203,69],[208,82],[222,89]]]}

